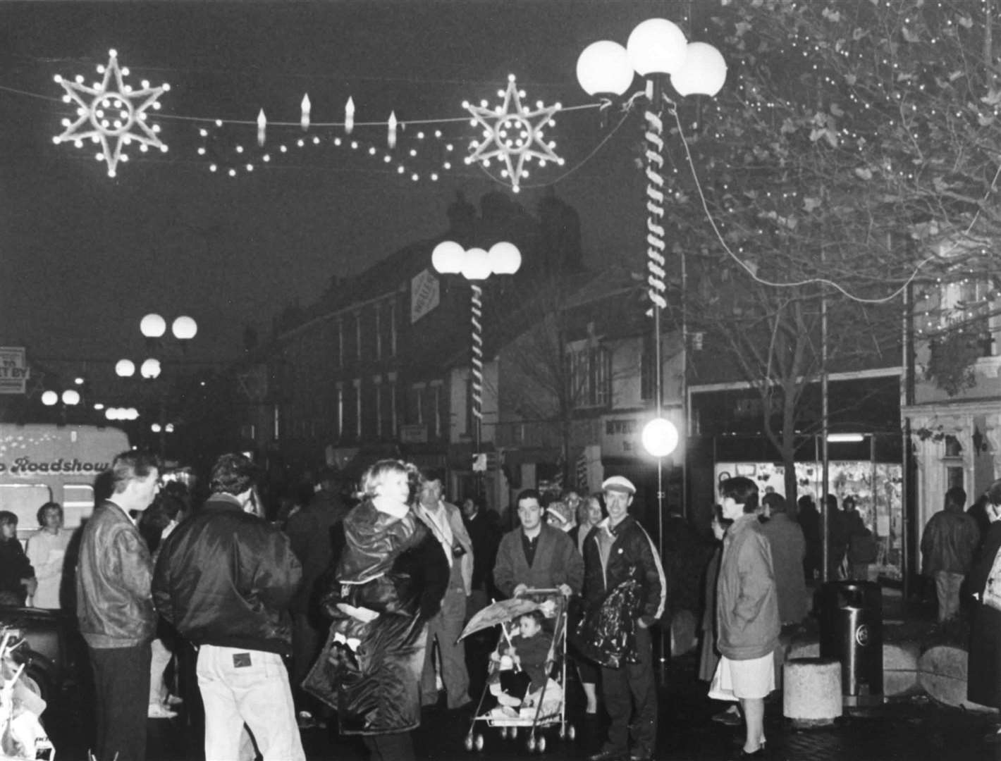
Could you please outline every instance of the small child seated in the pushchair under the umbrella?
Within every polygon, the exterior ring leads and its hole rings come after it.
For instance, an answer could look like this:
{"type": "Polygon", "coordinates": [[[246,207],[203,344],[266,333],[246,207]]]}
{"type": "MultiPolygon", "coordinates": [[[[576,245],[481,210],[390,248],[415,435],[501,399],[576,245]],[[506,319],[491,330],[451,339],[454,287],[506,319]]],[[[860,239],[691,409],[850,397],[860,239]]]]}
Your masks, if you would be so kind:
{"type": "Polygon", "coordinates": [[[544,630],[541,610],[523,613],[515,623],[518,634],[504,638],[490,655],[490,694],[497,700],[490,711],[495,718],[516,718],[522,711],[531,718],[542,701],[543,715],[560,711],[563,688],[549,675],[553,663],[553,635],[544,630]]]}

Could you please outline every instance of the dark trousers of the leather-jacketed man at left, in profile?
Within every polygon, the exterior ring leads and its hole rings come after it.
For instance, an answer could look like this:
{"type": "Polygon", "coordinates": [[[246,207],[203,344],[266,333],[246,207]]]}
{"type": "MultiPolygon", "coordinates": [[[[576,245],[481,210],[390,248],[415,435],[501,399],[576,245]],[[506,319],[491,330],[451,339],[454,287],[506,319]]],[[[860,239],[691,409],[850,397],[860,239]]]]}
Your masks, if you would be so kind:
{"type": "Polygon", "coordinates": [[[144,761],[149,710],[149,643],[87,647],[94,671],[97,761],[144,761]]]}

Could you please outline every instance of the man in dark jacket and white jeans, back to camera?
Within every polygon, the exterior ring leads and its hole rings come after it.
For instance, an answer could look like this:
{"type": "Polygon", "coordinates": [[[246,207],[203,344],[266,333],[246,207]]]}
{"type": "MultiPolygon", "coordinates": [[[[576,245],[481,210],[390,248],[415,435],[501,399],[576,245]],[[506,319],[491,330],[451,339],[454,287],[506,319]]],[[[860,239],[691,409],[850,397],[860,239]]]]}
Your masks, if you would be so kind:
{"type": "Polygon", "coordinates": [[[282,662],[302,567],[288,538],[256,514],[255,477],[243,455],[216,461],[212,495],[160,549],[153,599],[198,648],[205,758],[239,758],[245,723],[264,761],[305,761],[282,662]]]}

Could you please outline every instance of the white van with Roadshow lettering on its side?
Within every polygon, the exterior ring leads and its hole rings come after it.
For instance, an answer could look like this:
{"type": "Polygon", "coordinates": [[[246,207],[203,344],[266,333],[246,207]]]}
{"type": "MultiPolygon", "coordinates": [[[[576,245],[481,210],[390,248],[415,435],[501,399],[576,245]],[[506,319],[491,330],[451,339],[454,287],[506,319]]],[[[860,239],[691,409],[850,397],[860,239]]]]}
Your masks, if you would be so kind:
{"type": "Polygon", "coordinates": [[[64,525],[74,529],[94,510],[94,480],[128,449],[117,428],[0,423],[0,510],[17,515],[22,541],[46,502],[62,505],[64,525]]]}

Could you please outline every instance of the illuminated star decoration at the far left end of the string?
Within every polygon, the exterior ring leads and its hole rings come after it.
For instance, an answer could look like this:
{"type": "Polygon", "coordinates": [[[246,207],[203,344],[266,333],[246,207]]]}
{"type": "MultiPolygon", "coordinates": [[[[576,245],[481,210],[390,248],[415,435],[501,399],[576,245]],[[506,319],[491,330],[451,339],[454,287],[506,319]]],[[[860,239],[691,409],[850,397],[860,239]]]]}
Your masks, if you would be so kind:
{"type": "Polygon", "coordinates": [[[68,82],[56,74],[55,81],[66,90],[63,102],[76,101],[78,107],[76,121],[63,119],[65,130],[52,141],[58,144],[72,140],[77,148],[82,148],[87,138],[99,143],[101,151],[97,160],[106,161],[108,177],[114,177],[118,162],[128,160],[128,156],[122,153],[123,145],[135,141],[143,153],[150,148],[166,152],[167,146],[157,137],[159,125],[146,124],[146,109],[150,106],[154,110],[159,109],[157,99],[170,89],[170,85],[150,87],[149,82],[143,80],[142,89],[133,90],[131,85],[122,84],[122,77],[128,76],[128,69],[118,68],[118,54],[111,50],[109,55],[108,65],[97,67],[97,73],[103,74],[104,80],[94,82],[92,87],[87,87],[80,75],[75,82],[68,82]]]}

